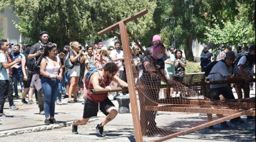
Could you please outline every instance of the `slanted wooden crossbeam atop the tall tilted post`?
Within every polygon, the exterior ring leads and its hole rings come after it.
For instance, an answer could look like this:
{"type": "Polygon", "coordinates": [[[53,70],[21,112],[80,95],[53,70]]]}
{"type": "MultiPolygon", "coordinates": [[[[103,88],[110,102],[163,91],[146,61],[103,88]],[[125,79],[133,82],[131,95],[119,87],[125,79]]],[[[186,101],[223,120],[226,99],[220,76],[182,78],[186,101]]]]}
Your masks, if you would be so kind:
{"type": "MultiPolygon", "coordinates": [[[[131,15],[130,17],[127,17],[119,22],[128,23],[129,21],[133,21],[134,19],[137,19],[138,17],[141,17],[142,15],[145,15],[146,13],[148,13],[148,9],[143,9],[142,11],[139,11],[135,15],[131,15]]],[[[119,22],[115,23],[114,25],[110,25],[109,27],[106,27],[105,29],[102,29],[101,31],[98,32],[98,35],[103,36],[105,33],[108,33],[110,31],[112,31],[113,29],[117,29],[119,27],[119,22]]]]}

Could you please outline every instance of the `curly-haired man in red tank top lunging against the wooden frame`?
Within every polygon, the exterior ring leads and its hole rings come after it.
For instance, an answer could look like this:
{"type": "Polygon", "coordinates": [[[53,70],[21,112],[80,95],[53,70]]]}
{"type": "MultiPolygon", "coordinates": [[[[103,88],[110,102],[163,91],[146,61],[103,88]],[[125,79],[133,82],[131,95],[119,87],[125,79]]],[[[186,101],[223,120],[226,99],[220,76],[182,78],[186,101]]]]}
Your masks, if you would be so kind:
{"type": "Polygon", "coordinates": [[[118,114],[118,110],[115,108],[113,102],[109,100],[108,92],[92,94],[91,90],[103,88],[108,88],[108,90],[111,90],[111,87],[109,86],[111,80],[117,82],[117,84],[122,87],[128,87],[128,84],[116,75],[118,70],[119,68],[117,67],[117,64],[114,62],[108,62],[101,70],[96,69],[96,71],[92,72],[92,75],[87,78],[85,84],[88,92],[86,94],[86,102],[84,104],[84,115],[83,118],[77,119],[77,121],[74,121],[71,124],[73,134],[78,134],[78,125],[86,124],[90,117],[96,117],[98,110],[100,110],[102,113],[104,113],[104,115],[106,115],[106,118],[104,121],[102,121],[102,123],[96,126],[96,131],[102,137],[105,136],[103,127],[106,125],[106,123],[109,123],[115,119],[118,114]]]}

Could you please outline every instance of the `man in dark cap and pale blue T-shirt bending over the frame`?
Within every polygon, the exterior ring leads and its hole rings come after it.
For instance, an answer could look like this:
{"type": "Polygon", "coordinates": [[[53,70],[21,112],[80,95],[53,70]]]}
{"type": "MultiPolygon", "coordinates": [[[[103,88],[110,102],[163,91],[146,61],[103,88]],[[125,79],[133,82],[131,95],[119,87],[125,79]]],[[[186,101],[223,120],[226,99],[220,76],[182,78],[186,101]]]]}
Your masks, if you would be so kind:
{"type": "MultiPolygon", "coordinates": [[[[239,70],[237,66],[234,66],[233,62],[236,58],[234,52],[228,52],[224,57],[224,60],[217,62],[207,76],[210,78],[210,81],[221,81],[221,80],[234,80],[234,79],[243,79],[246,82],[249,82],[250,78],[248,74],[244,71],[239,70]],[[234,74],[238,74],[239,76],[232,76],[230,72],[234,74]]],[[[229,84],[212,84],[210,85],[210,94],[213,100],[220,100],[220,94],[224,97],[224,99],[234,99],[234,94],[232,92],[232,88],[229,84]]],[[[219,115],[222,117],[221,115],[219,115]]],[[[231,119],[232,123],[244,123],[244,121],[238,117],[235,119],[231,119]]],[[[222,127],[228,127],[228,124],[225,122],[221,123],[222,127]]]]}

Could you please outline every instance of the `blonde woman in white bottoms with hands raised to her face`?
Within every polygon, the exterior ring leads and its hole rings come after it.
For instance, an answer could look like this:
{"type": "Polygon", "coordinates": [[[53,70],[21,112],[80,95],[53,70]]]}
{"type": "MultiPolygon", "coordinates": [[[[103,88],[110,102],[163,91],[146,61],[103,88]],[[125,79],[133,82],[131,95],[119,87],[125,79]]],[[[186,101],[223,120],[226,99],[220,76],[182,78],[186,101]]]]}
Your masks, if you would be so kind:
{"type": "Polygon", "coordinates": [[[71,50],[69,51],[69,58],[71,63],[73,64],[72,68],[69,68],[70,74],[70,86],[69,86],[69,100],[67,103],[75,103],[75,102],[83,102],[82,100],[77,99],[78,92],[78,82],[80,76],[80,63],[84,62],[84,50],[79,48],[78,42],[71,42],[70,45],[71,50]],[[73,100],[72,100],[73,93],[73,100]]]}

